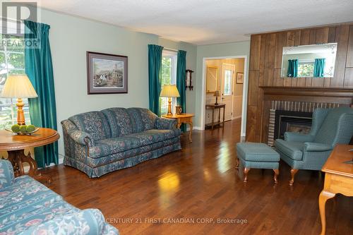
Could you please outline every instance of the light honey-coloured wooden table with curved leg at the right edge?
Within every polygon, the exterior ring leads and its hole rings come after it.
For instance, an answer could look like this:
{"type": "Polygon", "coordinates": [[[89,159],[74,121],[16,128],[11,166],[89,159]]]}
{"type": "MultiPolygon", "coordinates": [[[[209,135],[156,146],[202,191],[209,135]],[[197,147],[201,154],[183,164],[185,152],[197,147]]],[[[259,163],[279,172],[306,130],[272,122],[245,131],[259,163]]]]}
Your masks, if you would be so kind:
{"type": "Polygon", "coordinates": [[[325,234],[325,204],[336,193],[346,196],[353,196],[353,164],[345,163],[352,161],[353,145],[336,145],[335,149],[328,157],[328,161],[323,165],[321,171],[325,172],[325,183],[323,191],[318,198],[318,207],[321,217],[321,235],[325,234]]]}

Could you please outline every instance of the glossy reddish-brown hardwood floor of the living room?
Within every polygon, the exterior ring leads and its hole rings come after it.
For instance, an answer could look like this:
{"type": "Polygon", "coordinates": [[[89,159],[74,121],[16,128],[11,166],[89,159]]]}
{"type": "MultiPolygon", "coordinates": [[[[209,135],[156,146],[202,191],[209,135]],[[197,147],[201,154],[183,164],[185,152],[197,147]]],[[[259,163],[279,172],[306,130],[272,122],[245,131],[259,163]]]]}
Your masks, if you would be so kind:
{"type": "MultiPolygon", "coordinates": [[[[99,208],[122,235],[320,234],[324,175],[299,171],[290,187],[289,167],[280,162],[277,185],[273,171],[261,169],[251,169],[243,183],[234,168],[239,139],[240,119],[224,129],[194,131],[193,143],[184,135],[183,150],[99,179],[50,167],[44,170],[53,179],[47,186],[80,209],[99,208]]],[[[353,234],[352,198],[329,200],[326,215],[327,234],[353,234]]]]}

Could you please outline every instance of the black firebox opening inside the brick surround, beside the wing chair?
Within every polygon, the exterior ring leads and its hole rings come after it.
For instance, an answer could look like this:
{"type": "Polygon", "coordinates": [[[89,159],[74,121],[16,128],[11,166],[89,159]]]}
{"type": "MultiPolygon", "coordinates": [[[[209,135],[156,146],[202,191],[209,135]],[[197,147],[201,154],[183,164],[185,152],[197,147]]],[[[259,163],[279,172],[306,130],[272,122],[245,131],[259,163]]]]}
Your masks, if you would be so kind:
{"type": "Polygon", "coordinates": [[[308,134],[311,130],[311,116],[311,112],[276,110],[274,139],[284,139],[287,131],[308,134]]]}

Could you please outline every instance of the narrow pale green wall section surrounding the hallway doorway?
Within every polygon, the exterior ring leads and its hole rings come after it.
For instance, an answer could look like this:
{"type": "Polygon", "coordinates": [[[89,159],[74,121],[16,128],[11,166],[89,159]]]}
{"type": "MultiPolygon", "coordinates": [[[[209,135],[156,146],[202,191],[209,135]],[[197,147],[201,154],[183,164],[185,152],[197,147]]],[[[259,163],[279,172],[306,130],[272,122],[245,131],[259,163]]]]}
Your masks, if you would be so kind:
{"type": "MultiPolygon", "coordinates": [[[[205,94],[202,90],[202,80],[203,80],[203,59],[210,57],[225,57],[225,56],[247,56],[247,67],[249,68],[249,54],[250,54],[250,41],[246,42],[233,42],[225,44],[213,44],[197,47],[197,61],[196,61],[196,117],[194,119],[195,126],[201,127],[201,99],[205,94]]],[[[244,74],[244,80],[247,80],[247,71],[244,74]]],[[[245,85],[245,84],[244,84],[245,85]]],[[[247,83],[246,83],[247,85],[247,83]]],[[[246,90],[247,90],[246,86],[246,90]]],[[[195,88],[194,88],[195,90],[195,88]]],[[[246,106],[245,106],[246,107],[246,106]]],[[[244,131],[243,131],[244,132],[244,131]]]]}

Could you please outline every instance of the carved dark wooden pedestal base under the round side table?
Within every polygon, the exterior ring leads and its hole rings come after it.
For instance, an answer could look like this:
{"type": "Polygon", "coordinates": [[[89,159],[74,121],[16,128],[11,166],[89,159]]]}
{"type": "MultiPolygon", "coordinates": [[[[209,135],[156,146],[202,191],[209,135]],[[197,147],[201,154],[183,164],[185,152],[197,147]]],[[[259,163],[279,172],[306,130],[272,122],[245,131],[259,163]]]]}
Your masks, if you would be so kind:
{"type": "Polygon", "coordinates": [[[25,150],[8,151],[8,160],[13,165],[13,173],[16,177],[23,176],[25,174],[25,170],[23,169],[23,162],[27,162],[30,166],[30,169],[27,173],[29,176],[39,181],[45,180],[47,183],[52,182],[50,176],[45,176],[38,172],[37,162],[35,162],[35,159],[32,159],[30,152],[28,152],[28,155],[25,155],[25,150]]]}

